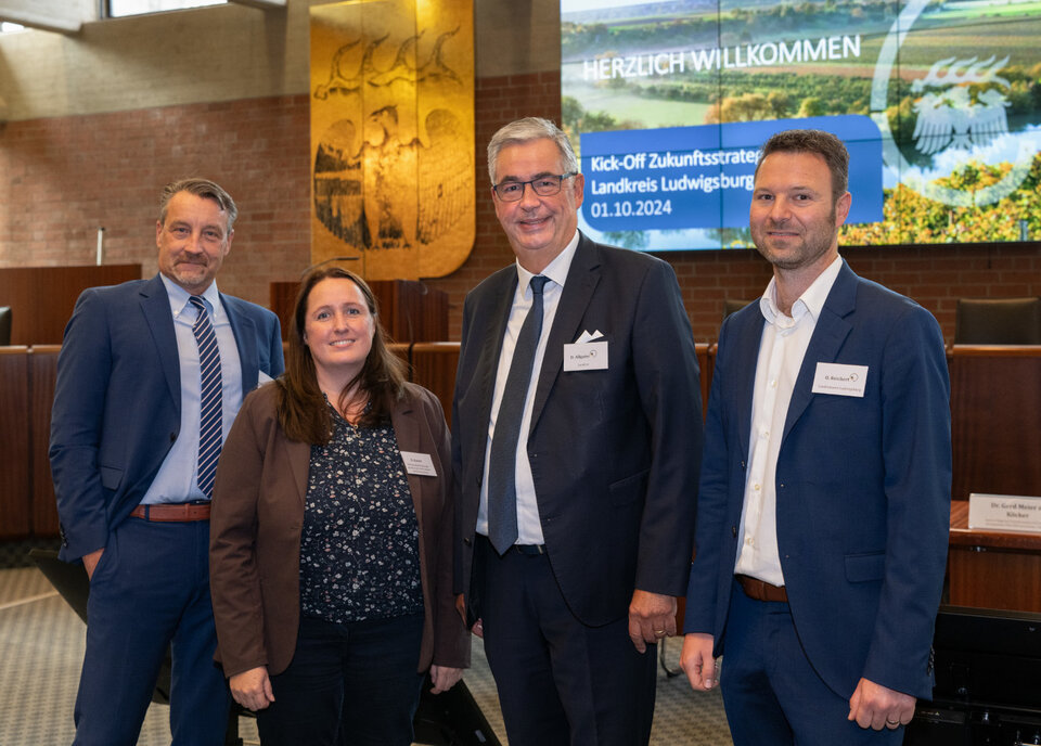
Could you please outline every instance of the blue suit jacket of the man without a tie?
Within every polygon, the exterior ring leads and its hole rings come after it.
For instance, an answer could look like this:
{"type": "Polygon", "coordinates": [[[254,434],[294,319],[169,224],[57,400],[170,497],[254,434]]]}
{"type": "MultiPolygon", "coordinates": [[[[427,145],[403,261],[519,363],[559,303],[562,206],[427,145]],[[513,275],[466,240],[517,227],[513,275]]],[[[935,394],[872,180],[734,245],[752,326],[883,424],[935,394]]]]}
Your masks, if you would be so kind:
{"type": "MultiPolygon", "coordinates": [[[[758,304],[723,322],[706,421],[684,629],[715,634],[717,654],[727,644],[763,323],[758,304]]],[[[931,696],[950,520],[949,400],[936,320],[844,265],[806,350],[776,471],[792,616],[810,663],[843,697],[861,677],[931,696]],[[864,396],[811,393],[818,362],[866,365],[864,396]]]]}

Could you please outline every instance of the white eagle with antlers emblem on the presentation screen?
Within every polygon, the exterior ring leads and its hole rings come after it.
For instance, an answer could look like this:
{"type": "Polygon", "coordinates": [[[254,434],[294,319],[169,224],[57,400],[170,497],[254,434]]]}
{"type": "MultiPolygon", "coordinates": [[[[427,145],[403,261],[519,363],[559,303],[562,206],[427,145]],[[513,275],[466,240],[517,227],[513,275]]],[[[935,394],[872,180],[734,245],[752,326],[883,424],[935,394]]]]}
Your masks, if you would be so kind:
{"type": "Polygon", "coordinates": [[[1007,62],[1007,56],[995,62],[994,55],[979,62],[947,57],[914,80],[911,91],[922,93],[914,103],[915,149],[926,155],[948,147],[969,150],[1007,133],[1011,104],[1002,89],[1007,91],[1010,83],[998,75],[1007,62]],[[978,91],[975,98],[972,87],[978,91]]]}

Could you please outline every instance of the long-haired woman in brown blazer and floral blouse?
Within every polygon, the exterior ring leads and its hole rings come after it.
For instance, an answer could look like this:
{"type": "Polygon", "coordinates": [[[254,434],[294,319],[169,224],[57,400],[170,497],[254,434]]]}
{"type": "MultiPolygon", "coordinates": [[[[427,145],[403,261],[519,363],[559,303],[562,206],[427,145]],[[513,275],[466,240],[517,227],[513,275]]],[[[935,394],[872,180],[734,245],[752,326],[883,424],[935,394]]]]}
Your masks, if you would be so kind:
{"type": "Polygon", "coordinates": [[[442,692],[470,663],[448,427],[403,371],[364,281],[314,270],[285,374],[246,397],[224,443],[217,656],[265,746],[410,744],[423,672],[442,692]]]}

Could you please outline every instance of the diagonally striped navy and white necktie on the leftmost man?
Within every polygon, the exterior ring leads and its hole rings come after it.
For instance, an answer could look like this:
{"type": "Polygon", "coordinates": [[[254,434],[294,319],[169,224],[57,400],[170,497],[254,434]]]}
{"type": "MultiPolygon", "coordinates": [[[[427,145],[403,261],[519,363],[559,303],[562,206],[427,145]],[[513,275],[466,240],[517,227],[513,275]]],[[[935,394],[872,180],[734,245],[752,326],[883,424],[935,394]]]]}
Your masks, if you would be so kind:
{"type": "Polygon", "coordinates": [[[217,459],[222,438],[222,407],[220,401],[220,349],[217,335],[209,321],[209,313],[197,295],[189,301],[198,310],[192,332],[198,345],[198,466],[196,484],[207,498],[214,493],[214,477],[217,475],[217,459]]]}

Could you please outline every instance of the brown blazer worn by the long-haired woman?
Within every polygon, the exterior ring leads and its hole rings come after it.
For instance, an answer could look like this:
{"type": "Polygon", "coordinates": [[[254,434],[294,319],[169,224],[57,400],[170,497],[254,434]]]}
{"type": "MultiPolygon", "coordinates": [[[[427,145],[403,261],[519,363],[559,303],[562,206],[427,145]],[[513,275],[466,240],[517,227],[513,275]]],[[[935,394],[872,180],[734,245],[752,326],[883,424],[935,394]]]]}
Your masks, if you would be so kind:
{"type": "MultiPolygon", "coordinates": [[[[228,677],[290,665],[300,616],[300,528],[311,447],[279,427],[269,384],[249,394],[224,443],[214,487],[209,574],[217,659],[228,677]]],[[[398,447],[427,453],[437,476],[408,475],[420,526],[426,621],[416,670],[470,665],[470,634],[452,595],[452,466],[437,398],[406,384],[390,414],[398,447]]]]}

